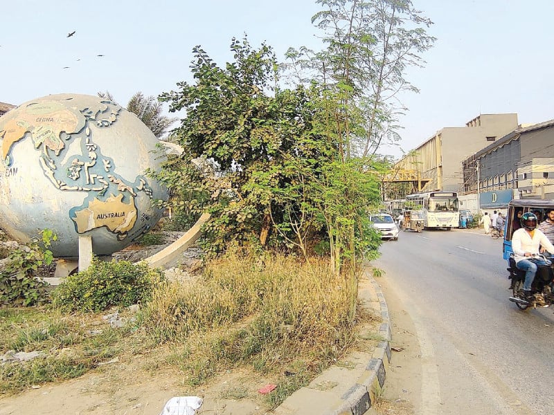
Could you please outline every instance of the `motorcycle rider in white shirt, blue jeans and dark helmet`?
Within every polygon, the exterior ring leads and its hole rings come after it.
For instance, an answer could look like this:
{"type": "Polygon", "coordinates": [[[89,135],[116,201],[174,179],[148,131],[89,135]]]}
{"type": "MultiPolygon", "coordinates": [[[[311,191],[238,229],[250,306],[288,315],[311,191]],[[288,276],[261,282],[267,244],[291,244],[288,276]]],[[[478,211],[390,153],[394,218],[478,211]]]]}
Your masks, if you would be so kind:
{"type": "Polygon", "coordinates": [[[544,259],[538,259],[539,246],[554,254],[554,245],[537,229],[537,216],[526,212],[521,216],[521,228],[512,235],[512,251],[514,252],[515,266],[525,271],[524,299],[533,300],[531,284],[537,273],[537,265],[546,265],[544,259]]]}

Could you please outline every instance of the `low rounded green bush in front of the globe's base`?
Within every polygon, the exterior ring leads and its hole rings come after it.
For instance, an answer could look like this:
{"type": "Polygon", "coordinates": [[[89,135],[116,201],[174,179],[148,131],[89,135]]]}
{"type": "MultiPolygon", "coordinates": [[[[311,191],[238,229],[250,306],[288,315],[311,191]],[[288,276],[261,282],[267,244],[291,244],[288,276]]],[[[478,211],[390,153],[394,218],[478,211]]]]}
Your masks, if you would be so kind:
{"type": "Polygon", "coordinates": [[[52,292],[55,306],[65,311],[102,311],[111,306],[145,303],[155,284],[163,279],[159,269],[145,263],[101,261],[93,258],[87,270],[69,275],[52,292]]]}

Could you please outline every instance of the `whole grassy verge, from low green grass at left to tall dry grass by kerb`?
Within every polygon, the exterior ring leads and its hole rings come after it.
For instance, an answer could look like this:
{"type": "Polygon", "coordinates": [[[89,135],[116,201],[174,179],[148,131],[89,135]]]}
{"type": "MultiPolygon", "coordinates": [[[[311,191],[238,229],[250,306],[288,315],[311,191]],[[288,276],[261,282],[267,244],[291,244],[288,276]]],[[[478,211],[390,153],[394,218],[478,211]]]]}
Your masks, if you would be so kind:
{"type": "MultiPolygon", "coordinates": [[[[323,259],[233,252],[189,282],[158,282],[139,315],[127,316],[120,329],[102,318],[113,311],[3,309],[0,354],[42,351],[44,356],[0,365],[0,394],[75,378],[117,356],[123,361],[158,351],[190,386],[234,368],[270,377],[277,385],[267,396],[273,408],[359,340],[349,318],[352,290],[346,280],[330,273],[323,259]]],[[[127,312],[118,310],[121,317],[127,312]]],[[[227,393],[246,395],[240,388],[227,393]]]]}

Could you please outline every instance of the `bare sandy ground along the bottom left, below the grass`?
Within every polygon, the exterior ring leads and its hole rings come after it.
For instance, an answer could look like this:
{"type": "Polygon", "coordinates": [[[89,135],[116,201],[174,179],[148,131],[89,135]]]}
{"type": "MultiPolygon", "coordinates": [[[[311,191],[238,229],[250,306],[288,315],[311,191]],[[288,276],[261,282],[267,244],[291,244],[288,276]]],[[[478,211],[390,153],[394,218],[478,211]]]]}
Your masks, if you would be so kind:
{"type": "Polygon", "coordinates": [[[182,373],[154,360],[138,356],[134,361],[105,365],[78,379],[4,396],[0,398],[0,414],[158,415],[173,396],[203,398],[197,414],[268,412],[264,396],[257,391],[268,379],[246,371],[226,371],[210,384],[193,389],[185,385],[182,373]],[[159,367],[152,370],[156,365],[159,367]],[[247,396],[233,398],[238,391],[247,396]]]}

